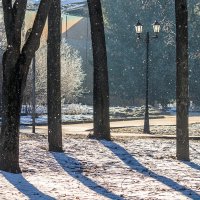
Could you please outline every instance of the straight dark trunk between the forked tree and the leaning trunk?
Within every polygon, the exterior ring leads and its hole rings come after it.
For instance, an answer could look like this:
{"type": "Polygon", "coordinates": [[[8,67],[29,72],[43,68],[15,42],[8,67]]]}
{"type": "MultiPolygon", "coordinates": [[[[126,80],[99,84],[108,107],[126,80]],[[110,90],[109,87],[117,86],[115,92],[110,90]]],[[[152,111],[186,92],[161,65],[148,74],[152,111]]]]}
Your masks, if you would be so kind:
{"type": "Polygon", "coordinates": [[[60,0],[53,0],[48,16],[47,102],[48,141],[50,151],[62,151],[60,89],[60,0]]]}

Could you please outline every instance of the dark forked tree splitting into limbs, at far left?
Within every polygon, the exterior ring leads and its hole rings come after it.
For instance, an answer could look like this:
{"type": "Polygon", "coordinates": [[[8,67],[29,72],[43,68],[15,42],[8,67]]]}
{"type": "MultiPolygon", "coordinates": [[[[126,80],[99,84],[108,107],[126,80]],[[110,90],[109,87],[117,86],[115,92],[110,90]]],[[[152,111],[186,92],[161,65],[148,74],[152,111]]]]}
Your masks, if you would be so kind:
{"type": "Polygon", "coordinates": [[[3,55],[2,127],[0,133],[0,169],[20,173],[19,124],[27,74],[46,22],[51,0],[41,0],[32,31],[21,45],[21,30],[27,0],[2,0],[7,49],[3,55]]]}

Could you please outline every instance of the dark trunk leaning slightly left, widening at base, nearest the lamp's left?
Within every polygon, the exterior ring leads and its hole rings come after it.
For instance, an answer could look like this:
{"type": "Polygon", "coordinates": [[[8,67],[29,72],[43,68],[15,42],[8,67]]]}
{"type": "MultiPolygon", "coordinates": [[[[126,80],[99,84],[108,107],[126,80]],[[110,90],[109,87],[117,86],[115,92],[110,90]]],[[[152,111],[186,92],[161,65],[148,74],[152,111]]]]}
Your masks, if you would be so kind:
{"type": "Polygon", "coordinates": [[[104,21],[100,0],[88,0],[93,48],[94,134],[97,139],[110,140],[109,86],[104,21]]]}

